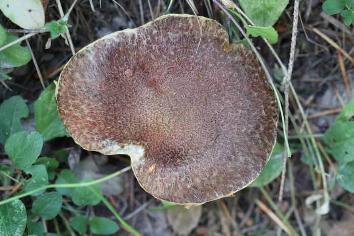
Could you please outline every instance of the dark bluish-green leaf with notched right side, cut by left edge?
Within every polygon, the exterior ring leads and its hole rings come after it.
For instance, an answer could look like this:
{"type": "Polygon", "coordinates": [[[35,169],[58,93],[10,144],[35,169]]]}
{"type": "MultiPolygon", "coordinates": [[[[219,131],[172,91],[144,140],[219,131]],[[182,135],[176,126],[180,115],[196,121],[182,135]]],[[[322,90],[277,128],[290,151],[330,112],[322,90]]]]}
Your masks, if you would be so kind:
{"type": "Polygon", "coordinates": [[[20,119],[28,116],[28,107],[20,96],[6,100],[0,106],[0,143],[5,145],[6,140],[14,133],[21,131],[20,119]]]}

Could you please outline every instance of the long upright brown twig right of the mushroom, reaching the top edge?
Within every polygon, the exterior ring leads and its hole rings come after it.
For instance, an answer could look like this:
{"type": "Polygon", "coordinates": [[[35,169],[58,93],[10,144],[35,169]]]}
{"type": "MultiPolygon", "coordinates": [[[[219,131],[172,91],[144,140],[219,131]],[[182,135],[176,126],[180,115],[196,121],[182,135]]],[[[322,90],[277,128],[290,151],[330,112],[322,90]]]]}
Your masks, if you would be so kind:
{"type": "MultiPolygon", "coordinates": [[[[289,65],[288,65],[288,73],[285,79],[285,87],[284,87],[284,99],[285,99],[285,130],[286,130],[286,135],[289,131],[289,87],[290,87],[290,80],[291,80],[291,75],[294,67],[294,59],[295,59],[295,50],[296,50],[296,36],[297,36],[297,23],[299,21],[299,0],[295,0],[294,3],[294,19],[293,19],[293,26],[292,26],[292,35],[291,35],[291,47],[290,47],[290,58],[289,58],[289,65]]],[[[284,146],[284,149],[286,151],[286,145],[284,146]]],[[[280,190],[279,190],[279,197],[278,201],[282,202],[283,201],[283,191],[284,191],[284,182],[285,182],[285,172],[286,172],[286,162],[288,160],[288,157],[286,155],[286,152],[284,152],[283,156],[283,170],[282,170],[282,177],[281,177],[281,182],[280,182],[280,190]]]]}

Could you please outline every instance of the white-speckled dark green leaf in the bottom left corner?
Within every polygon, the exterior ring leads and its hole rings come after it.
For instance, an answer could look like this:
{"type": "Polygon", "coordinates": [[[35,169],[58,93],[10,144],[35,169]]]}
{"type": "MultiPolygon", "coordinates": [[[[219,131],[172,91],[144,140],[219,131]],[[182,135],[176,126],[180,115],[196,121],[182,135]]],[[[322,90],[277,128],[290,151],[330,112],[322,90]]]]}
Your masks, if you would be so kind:
{"type": "Polygon", "coordinates": [[[0,236],[22,236],[26,221],[26,208],[20,200],[0,206],[0,236]]]}

